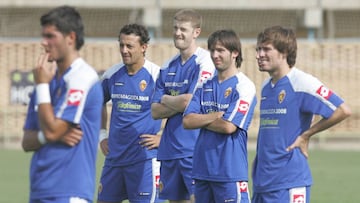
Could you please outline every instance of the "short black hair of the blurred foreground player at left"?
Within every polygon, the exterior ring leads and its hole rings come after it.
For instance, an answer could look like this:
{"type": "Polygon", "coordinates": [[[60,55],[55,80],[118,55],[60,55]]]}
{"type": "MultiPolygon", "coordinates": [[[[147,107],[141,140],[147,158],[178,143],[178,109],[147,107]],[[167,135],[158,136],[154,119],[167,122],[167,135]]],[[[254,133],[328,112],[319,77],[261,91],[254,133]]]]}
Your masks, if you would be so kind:
{"type": "Polygon", "coordinates": [[[80,50],[84,45],[84,25],[79,12],[70,6],[56,7],[40,18],[41,26],[54,25],[62,34],[75,32],[75,48],[80,50]]]}

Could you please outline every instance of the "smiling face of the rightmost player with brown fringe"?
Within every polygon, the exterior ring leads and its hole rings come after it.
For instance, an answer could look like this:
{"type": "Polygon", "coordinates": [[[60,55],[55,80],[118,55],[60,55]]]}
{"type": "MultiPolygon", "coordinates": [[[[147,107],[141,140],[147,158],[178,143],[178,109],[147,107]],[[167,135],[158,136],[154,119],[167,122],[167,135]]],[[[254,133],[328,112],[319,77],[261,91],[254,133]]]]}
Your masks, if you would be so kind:
{"type": "Polygon", "coordinates": [[[280,53],[272,44],[258,44],[256,46],[256,60],[259,70],[273,73],[286,64],[286,55],[280,53]]]}

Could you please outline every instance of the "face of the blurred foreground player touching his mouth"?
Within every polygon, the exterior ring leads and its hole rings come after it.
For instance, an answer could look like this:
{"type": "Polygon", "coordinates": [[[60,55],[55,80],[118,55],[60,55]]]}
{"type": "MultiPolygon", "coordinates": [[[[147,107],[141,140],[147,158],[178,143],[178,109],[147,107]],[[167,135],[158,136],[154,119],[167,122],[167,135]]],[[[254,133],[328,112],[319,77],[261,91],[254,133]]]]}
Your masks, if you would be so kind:
{"type": "Polygon", "coordinates": [[[49,61],[61,62],[68,53],[68,44],[71,43],[69,35],[63,35],[54,25],[42,28],[41,45],[49,53],[49,61]]]}

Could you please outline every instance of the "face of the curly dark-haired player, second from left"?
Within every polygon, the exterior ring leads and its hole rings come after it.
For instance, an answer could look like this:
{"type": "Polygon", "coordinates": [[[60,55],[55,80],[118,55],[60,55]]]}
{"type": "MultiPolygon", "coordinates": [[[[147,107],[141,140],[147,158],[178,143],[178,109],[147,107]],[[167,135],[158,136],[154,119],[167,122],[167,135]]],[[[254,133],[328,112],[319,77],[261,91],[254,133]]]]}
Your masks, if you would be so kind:
{"type": "MultiPolygon", "coordinates": [[[[140,37],[134,34],[120,34],[119,37],[120,54],[123,63],[128,67],[143,63],[146,44],[140,44],[140,37]]],[[[141,64],[142,65],[142,64],[141,64]]]]}

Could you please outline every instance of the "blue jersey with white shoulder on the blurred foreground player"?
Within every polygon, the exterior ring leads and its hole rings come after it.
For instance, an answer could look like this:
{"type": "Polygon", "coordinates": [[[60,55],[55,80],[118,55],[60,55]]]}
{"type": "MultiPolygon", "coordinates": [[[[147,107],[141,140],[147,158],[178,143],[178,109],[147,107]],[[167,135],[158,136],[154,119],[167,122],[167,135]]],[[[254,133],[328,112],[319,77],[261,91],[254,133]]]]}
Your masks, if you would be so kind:
{"type": "MultiPolygon", "coordinates": [[[[74,147],[52,142],[34,152],[30,166],[30,198],[73,196],[92,200],[103,103],[98,75],[79,58],[62,78],[54,77],[49,86],[55,116],[79,124],[83,136],[74,147]]],[[[28,109],[24,129],[40,130],[36,91],[28,109]]]]}

